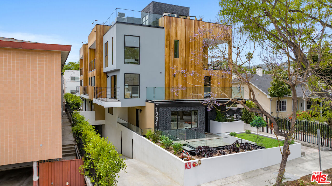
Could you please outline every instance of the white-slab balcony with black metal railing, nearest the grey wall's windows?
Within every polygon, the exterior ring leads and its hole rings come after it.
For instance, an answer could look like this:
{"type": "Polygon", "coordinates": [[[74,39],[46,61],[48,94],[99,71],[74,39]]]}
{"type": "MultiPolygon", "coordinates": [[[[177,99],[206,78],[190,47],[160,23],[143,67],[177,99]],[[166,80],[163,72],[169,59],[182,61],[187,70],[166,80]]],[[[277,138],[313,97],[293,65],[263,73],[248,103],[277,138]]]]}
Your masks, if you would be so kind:
{"type": "Polygon", "coordinates": [[[104,108],[121,107],[120,87],[94,87],[93,102],[104,108]]]}

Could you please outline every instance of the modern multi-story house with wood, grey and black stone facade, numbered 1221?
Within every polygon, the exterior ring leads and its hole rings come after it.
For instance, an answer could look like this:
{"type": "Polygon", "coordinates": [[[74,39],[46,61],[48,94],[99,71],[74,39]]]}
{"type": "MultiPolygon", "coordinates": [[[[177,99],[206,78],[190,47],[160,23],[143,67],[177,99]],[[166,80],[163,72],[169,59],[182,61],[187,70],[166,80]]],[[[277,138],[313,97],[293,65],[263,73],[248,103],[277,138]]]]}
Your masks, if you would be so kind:
{"type": "MultiPolygon", "coordinates": [[[[200,27],[212,28],[217,23],[190,19],[189,15],[188,7],[158,2],[151,2],[141,12],[116,9],[105,23],[108,25],[95,25],[88,43],[81,47],[82,115],[92,124],[102,123],[102,136],[119,149],[117,123],[141,133],[149,128],[209,132],[215,111],[207,111],[202,104],[211,92],[204,87],[208,83],[185,77],[174,67],[212,79],[209,72],[214,69],[191,63],[192,51],[204,43],[190,42],[190,37],[200,27]],[[182,87],[180,91],[174,90],[177,86],[182,87]]],[[[231,26],[224,27],[213,31],[231,36],[231,26]]],[[[210,43],[210,38],[204,39],[210,43]]],[[[215,71],[228,76],[224,81],[207,82],[226,87],[231,95],[231,84],[226,81],[231,73],[225,70],[215,71]]],[[[218,95],[217,100],[226,103],[226,97],[218,95]]]]}

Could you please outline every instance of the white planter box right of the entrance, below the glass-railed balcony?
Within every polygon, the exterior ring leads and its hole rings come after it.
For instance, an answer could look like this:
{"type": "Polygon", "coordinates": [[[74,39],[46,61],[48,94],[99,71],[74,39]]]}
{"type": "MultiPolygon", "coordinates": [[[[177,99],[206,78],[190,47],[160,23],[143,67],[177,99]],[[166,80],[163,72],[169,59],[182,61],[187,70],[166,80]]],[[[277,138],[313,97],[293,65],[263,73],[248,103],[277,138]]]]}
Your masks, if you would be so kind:
{"type": "Polygon", "coordinates": [[[210,132],[213,134],[225,133],[225,132],[242,132],[243,121],[234,119],[236,121],[219,122],[210,120],[210,132]]]}

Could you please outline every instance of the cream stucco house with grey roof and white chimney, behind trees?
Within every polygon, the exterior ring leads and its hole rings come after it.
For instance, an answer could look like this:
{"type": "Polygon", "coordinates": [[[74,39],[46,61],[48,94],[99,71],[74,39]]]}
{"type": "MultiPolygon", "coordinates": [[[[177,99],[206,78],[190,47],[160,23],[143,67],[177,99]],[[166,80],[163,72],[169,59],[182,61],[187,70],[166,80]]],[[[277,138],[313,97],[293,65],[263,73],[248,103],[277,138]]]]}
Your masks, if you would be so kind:
{"type": "MultiPolygon", "coordinates": [[[[271,74],[263,74],[263,69],[257,68],[256,74],[251,74],[250,83],[253,85],[252,88],[255,93],[255,97],[261,105],[263,106],[264,110],[270,112],[272,116],[277,116],[277,97],[269,96],[268,88],[271,87],[272,75],[271,74]]],[[[244,90],[244,99],[249,100],[249,91],[248,86],[237,80],[233,80],[233,84],[239,88],[243,87],[244,90]]],[[[296,95],[297,95],[297,110],[302,111],[310,111],[310,107],[312,104],[317,104],[317,102],[312,102],[310,98],[313,98],[312,92],[310,92],[304,86],[297,86],[296,87],[296,95]],[[309,100],[308,100],[309,99],[309,100]]],[[[239,107],[242,107],[239,105],[239,107]]],[[[281,98],[279,103],[280,111],[279,117],[286,117],[292,114],[293,111],[293,104],[292,104],[292,97],[285,96],[281,98]]]]}

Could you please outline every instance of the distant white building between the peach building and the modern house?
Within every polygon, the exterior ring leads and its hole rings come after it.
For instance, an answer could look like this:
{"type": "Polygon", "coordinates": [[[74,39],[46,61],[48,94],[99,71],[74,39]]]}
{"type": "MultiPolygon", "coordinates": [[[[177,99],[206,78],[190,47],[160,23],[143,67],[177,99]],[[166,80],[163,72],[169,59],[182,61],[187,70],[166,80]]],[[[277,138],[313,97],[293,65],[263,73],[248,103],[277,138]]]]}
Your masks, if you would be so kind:
{"type": "Polygon", "coordinates": [[[63,94],[75,94],[76,87],[80,86],[80,71],[79,70],[65,70],[63,72],[63,94]]]}

